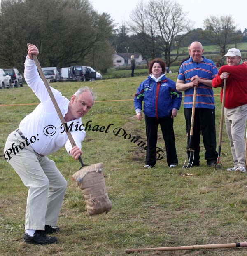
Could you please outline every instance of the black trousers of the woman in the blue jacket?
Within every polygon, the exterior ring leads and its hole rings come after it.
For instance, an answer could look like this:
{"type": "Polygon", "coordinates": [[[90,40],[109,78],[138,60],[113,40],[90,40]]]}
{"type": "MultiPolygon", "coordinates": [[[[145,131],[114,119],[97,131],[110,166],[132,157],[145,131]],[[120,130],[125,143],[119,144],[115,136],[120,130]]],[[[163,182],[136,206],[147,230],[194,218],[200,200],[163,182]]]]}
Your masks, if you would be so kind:
{"type": "Polygon", "coordinates": [[[145,116],[146,134],[147,134],[147,154],[146,164],[154,166],[156,164],[156,144],[158,139],[158,125],[161,126],[163,139],[165,141],[166,160],[168,166],[170,164],[178,164],[177,152],[175,146],[175,136],[173,130],[173,118],[164,117],[157,119],[156,117],[145,116]]]}

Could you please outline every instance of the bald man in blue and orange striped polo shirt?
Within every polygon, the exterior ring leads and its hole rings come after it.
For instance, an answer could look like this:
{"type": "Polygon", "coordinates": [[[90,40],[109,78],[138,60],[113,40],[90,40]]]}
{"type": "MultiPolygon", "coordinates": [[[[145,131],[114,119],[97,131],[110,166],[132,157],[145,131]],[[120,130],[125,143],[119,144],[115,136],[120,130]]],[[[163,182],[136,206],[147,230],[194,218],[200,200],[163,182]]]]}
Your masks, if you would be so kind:
{"type": "MultiPolygon", "coordinates": [[[[205,159],[207,166],[213,166],[217,162],[215,132],[215,106],[212,79],[217,76],[217,68],[213,61],[203,56],[203,46],[200,42],[193,42],[189,49],[190,59],[182,63],[177,76],[176,88],[184,91],[184,117],[186,129],[190,134],[191,113],[193,104],[193,91],[197,86],[196,109],[193,127],[193,140],[191,147],[195,150],[192,166],[199,166],[200,159],[200,131],[205,147],[205,159]]],[[[187,140],[189,149],[189,136],[187,140]]],[[[192,161],[192,158],[191,158],[192,161]]],[[[188,167],[192,162],[189,162],[188,167]]]]}

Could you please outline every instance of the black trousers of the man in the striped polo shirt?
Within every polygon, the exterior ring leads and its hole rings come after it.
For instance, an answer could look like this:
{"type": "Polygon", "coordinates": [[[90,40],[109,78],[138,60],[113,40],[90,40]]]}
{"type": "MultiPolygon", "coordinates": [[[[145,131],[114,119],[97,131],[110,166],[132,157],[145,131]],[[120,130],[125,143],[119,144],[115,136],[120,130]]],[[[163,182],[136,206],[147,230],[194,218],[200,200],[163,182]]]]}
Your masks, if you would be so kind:
{"type": "MultiPolygon", "coordinates": [[[[184,108],[186,130],[188,131],[187,149],[189,149],[191,114],[192,108],[184,108]]],[[[191,148],[195,150],[194,164],[199,164],[200,162],[200,131],[202,132],[203,144],[206,150],[204,157],[207,160],[207,164],[216,162],[218,153],[216,151],[215,109],[195,109],[193,139],[191,141],[191,148]]]]}

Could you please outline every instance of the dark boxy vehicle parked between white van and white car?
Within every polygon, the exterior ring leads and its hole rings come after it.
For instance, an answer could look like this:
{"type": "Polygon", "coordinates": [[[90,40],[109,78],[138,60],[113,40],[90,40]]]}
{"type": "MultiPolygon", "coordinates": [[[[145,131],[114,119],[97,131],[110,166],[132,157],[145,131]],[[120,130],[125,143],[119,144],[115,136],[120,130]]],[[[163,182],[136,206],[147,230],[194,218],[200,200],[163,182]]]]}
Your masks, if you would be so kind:
{"type": "Polygon", "coordinates": [[[71,66],[69,80],[71,81],[92,81],[96,79],[96,72],[86,66],[71,66]]]}

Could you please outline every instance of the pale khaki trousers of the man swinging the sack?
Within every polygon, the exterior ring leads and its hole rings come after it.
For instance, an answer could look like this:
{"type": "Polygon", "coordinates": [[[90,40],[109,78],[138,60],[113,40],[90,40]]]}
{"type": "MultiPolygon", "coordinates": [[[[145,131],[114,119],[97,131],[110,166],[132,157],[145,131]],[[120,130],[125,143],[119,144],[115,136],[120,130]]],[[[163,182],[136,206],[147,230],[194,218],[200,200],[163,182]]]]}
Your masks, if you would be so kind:
{"type": "Polygon", "coordinates": [[[9,155],[5,153],[5,158],[28,188],[25,229],[44,230],[44,225],[55,226],[67,181],[54,161],[37,154],[31,143],[27,146],[25,140],[15,131],[9,134],[4,152],[8,150],[10,153],[9,149],[12,152],[9,155]],[[12,158],[9,159],[10,157],[12,158]]]}

